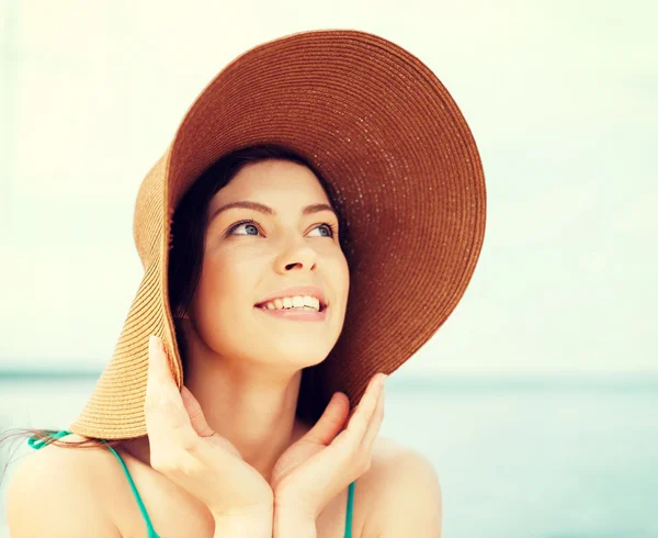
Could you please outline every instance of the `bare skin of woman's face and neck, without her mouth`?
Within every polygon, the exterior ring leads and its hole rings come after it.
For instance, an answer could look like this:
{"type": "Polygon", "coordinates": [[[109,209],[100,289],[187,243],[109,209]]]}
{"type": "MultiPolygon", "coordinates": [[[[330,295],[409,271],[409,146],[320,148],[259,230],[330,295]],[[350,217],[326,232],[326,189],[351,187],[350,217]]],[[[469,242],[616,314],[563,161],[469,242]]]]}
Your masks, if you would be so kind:
{"type": "Polygon", "coordinates": [[[322,225],[338,227],[333,212],[302,215],[307,205],[329,204],[309,169],[283,160],[248,165],[215,194],[208,213],[246,200],[276,216],[234,208],[208,223],[201,282],[184,320],[185,385],[209,427],[269,479],[308,427],[295,419],[302,369],[321,362],[336,344],[350,279],[338,234],[330,237],[331,228],[322,225]],[[258,225],[227,235],[243,218],[258,225]],[[330,304],[325,322],[275,320],[254,310],[271,293],[297,284],[322,289],[330,304]]]}

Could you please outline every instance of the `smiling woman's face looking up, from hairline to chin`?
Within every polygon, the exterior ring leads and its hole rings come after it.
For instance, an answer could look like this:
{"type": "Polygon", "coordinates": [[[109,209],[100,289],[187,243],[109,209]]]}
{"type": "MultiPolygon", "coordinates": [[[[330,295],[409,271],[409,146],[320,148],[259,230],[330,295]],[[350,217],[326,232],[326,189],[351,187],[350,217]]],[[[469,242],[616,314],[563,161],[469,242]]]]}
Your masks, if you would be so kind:
{"type": "Polygon", "coordinates": [[[338,218],[308,168],[286,160],[250,164],[213,198],[191,317],[215,352],[286,369],[321,362],[342,329],[349,285],[338,218]],[[236,202],[260,205],[226,208],[236,202]],[[317,296],[286,292],[290,287],[317,287],[325,313],[303,312],[314,318],[296,320],[262,307],[280,292],[317,296]]]}

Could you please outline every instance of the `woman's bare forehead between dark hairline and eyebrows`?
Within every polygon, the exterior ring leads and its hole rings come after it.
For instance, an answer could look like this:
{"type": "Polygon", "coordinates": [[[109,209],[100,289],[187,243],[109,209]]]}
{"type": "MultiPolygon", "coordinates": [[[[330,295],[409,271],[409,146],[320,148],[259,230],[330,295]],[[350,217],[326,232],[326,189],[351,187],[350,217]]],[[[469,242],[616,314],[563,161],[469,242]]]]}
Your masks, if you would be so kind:
{"type": "Polygon", "coordinates": [[[238,200],[263,203],[318,203],[328,202],[327,193],[313,171],[290,160],[262,160],[248,164],[222,188],[211,204],[211,210],[238,200]]]}

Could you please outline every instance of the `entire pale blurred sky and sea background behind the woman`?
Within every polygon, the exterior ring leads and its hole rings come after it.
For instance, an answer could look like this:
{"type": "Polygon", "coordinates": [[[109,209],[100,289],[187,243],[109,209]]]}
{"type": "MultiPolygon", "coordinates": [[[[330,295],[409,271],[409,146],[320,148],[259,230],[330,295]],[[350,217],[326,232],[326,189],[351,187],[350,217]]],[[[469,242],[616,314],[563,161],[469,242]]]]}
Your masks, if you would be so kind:
{"type": "Polygon", "coordinates": [[[432,460],[445,538],[658,537],[657,18],[648,0],[0,0],[0,431],[80,411],[141,279],[139,183],[215,74],[359,29],[436,74],[487,177],[476,271],[389,379],[383,435],[432,460]]]}

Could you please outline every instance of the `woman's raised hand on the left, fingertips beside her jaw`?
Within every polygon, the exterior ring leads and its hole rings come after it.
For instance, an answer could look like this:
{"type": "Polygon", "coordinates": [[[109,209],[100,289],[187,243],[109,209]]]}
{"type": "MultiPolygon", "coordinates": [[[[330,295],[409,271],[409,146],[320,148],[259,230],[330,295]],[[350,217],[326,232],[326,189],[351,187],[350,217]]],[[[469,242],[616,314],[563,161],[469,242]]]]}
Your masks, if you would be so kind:
{"type": "Polygon", "coordinates": [[[186,386],[179,392],[157,336],[149,340],[146,429],[150,464],[202,501],[215,518],[258,518],[273,509],[268,481],[213,431],[186,386]]]}

